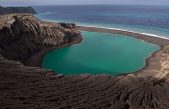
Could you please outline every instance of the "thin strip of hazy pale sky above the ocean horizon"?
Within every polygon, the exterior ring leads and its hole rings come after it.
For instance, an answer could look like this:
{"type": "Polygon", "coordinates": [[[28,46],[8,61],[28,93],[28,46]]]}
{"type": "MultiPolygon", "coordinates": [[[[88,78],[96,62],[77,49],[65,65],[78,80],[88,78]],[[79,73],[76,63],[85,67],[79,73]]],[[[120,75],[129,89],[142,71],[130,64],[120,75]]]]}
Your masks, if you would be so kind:
{"type": "Polygon", "coordinates": [[[69,5],[69,4],[169,5],[169,0],[0,0],[0,5],[3,6],[69,5]]]}

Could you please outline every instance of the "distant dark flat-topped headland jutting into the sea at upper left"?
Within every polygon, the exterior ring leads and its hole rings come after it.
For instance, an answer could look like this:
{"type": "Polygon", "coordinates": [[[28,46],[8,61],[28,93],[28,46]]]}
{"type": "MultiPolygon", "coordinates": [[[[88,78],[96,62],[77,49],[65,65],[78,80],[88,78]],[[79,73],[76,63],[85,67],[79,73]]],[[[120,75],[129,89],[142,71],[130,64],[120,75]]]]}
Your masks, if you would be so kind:
{"type": "Polygon", "coordinates": [[[32,7],[2,7],[0,6],[0,15],[11,13],[30,13],[36,14],[37,12],[32,7]]]}

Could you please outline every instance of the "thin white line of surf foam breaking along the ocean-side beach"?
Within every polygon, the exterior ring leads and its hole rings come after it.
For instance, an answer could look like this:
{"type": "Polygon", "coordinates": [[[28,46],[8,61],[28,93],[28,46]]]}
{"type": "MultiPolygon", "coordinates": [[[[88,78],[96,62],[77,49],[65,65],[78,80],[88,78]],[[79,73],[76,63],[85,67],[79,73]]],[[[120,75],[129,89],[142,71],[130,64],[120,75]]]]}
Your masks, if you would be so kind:
{"type": "Polygon", "coordinates": [[[119,29],[119,28],[110,28],[110,27],[97,27],[97,26],[88,26],[88,25],[78,25],[78,26],[82,26],[82,27],[91,27],[91,28],[98,28],[98,29],[110,29],[110,30],[118,30],[118,31],[126,31],[126,32],[131,32],[131,33],[137,33],[137,34],[141,34],[141,35],[146,35],[146,36],[150,36],[150,37],[158,37],[158,38],[162,38],[162,39],[166,39],[169,40],[169,37],[167,36],[159,36],[159,35],[155,35],[155,34],[150,34],[150,33],[142,33],[142,32],[136,32],[136,31],[129,31],[129,30],[124,30],[124,29],[119,29]]]}

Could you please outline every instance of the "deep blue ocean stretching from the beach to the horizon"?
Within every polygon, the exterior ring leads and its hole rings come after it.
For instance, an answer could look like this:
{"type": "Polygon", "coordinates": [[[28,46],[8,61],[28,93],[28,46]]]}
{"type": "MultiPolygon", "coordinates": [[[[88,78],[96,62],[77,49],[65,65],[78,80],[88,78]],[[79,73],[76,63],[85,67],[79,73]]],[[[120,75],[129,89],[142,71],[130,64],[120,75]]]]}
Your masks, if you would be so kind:
{"type": "Polygon", "coordinates": [[[36,6],[41,20],[120,28],[169,37],[169,7],[139,5],[36,6]]]}

